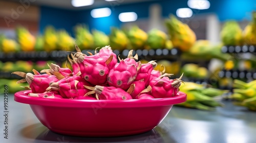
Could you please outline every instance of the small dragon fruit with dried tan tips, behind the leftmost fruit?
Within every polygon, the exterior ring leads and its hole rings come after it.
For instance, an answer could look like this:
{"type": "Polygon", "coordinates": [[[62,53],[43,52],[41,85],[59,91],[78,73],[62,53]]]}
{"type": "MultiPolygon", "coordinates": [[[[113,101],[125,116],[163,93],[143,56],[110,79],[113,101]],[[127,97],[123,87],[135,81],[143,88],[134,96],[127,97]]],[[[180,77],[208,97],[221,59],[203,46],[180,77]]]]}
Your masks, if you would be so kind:
{"type": "Polygon", "coordinates": [[[67,76],[70,77],[73,75],[72,71],[69,68],[63,68],[54,63],[51,63],[50,65],[48,64],[48,66],[50,67],[50,69],[43,69],[40,71],[40,73],[47,73],[50,75],[54,75],[55,72],[58,72],[64,77],[67,77],[67,76]]]}

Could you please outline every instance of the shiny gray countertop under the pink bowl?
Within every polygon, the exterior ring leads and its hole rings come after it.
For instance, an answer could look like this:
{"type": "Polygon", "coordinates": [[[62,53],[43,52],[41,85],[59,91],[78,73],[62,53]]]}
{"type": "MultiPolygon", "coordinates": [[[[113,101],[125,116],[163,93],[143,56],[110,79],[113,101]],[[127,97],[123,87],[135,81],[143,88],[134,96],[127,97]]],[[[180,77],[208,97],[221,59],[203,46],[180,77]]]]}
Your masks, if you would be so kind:
{"type": "Polygon", "coordinates": [[[0,97],[0,142],[256,142],[256,112],[233,106],[223,101],[225,107],[216,111],[202,111],[174,106],[155,129],[124,137],[74,137],[56,134],[43,126],[30,106],[15,102],[9,94],[8,139],[5,133],[4,98],[0,97]]]}

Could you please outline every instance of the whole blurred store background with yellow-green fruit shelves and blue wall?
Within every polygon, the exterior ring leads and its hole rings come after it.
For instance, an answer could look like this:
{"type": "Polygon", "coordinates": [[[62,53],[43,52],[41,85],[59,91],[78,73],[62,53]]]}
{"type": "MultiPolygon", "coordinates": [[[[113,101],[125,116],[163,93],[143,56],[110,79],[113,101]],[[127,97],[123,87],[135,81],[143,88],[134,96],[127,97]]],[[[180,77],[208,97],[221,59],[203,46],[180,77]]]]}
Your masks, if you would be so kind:
{"type": "Polygon", "coordinates": [[[234,80],[256,79],[254,10],[253,0],[0,0],[0,78],[15,92],[13,71],[71,67],[74,43],[83,53],[111,45],[174,78],[233,92],[234,80]]]}

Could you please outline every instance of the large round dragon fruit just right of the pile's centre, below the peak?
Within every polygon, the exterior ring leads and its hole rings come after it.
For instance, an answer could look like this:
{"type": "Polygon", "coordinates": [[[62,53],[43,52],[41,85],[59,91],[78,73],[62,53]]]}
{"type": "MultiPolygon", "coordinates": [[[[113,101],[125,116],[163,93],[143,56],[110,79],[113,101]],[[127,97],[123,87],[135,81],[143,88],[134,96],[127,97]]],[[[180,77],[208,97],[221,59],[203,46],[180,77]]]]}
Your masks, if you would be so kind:
{"type": "Polygon", "coordinates": [[[117,63],[108,75],[110,86],[127,90],[137,76],[137,67],[134,64],[128,65],[124,60],[117,63]]]}

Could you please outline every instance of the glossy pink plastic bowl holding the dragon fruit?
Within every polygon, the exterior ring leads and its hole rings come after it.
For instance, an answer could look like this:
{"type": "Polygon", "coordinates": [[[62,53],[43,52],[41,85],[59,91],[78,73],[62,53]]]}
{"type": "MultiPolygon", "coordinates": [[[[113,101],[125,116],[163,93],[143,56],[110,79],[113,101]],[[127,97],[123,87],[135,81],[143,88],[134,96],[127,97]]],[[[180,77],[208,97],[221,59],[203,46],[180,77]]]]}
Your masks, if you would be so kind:
{"type": "Polygon", "coordinates": [[[186,94],[150,100],[70,100],[29,97],[31,90],[14,94],[16,102],[29,104],[42,125],[73,136],[110,137],[147,132],[159,125],[174,104],[186,94]]]}

